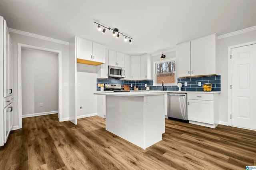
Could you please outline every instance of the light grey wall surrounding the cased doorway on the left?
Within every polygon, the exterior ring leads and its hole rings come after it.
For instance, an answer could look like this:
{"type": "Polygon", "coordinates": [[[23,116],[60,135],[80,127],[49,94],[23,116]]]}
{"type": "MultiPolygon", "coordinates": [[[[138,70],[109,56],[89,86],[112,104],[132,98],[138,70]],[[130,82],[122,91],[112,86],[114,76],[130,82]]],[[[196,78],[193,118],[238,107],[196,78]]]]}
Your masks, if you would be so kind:
{"type": "MultiPolygon", "coordinates": [[[[69,46],[60,43],[49,42],[38,38],[10,33],[13,42],[13,96],[14,96],[14,126],[18,126],[18,52],[17,43],[24,43],[38,47],[45,47],[62,51],[62,84],[68,82],[69,46]]],[[[68,120],[68,87],[62,88],[62,117],[60,120],[68,120]]]]}

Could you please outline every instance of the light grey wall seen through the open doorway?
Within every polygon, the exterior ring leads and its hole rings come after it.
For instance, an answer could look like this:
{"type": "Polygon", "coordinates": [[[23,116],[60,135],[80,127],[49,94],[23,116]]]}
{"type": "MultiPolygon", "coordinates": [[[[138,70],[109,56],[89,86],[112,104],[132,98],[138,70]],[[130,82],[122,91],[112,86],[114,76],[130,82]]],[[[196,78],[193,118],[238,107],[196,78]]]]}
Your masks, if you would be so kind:
{"type": "Polygon", "coordinates": [[[21,54],[22,116],[58,113],[58,53],[25,48],[21,54]]]}

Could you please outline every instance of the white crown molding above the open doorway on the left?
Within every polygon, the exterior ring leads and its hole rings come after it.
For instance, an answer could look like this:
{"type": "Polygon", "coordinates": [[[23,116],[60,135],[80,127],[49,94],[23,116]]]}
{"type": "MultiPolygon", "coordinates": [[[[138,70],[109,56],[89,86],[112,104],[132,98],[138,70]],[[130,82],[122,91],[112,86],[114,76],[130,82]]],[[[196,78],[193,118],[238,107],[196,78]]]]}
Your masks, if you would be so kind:
{"type": "Polygon", "coordinates": [[[15,33],[15,34],[20,34],[20,35],[23,35],[23,36],[38,38],[38,39],[41,39],[41,40],[46,40],[46,41],[50,41],[50,42],[60,43],[60,44],[64,44],[64,45],[69,45],[69,42],[64,42],[62,40],[57,40],[57,39],[54,39],[54,38],[49,38],[49,37],[40,36],[40,35],[37,35],[37,34],[32,34],[32,33],[29,33],[29,32],[15,30],[13,28],[8,28],[8,30],[9,30],[9,32],[12,32],[12,33],[15,33]]]}

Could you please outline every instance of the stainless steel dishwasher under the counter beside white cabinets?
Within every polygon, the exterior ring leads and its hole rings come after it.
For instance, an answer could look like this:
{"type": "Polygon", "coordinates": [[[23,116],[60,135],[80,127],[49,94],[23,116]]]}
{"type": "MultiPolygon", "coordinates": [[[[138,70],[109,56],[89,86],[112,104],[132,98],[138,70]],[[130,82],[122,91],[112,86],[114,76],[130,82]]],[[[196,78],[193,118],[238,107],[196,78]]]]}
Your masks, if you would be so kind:
{"type": "Polygon", "coordinates": [[[167,93],[168,119],[188,122],[187,93],[167,93]]]}

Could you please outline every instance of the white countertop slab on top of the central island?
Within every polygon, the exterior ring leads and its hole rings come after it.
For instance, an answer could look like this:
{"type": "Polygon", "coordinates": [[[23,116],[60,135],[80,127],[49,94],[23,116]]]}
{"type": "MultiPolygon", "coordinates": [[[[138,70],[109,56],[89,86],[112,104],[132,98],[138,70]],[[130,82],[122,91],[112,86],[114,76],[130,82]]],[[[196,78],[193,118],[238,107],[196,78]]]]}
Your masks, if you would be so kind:
{"type": "Polygon", "coordinates": [[[154,93],[148,91],[130,91],[130,92],[106,92],[106,91],[98,91],[94,93],[94,95],[109,95],[109,96],[125,96],[125,97],[138,97],[138,96],[155,96],[155,95],[164,95],[164,93],[154,93]]]}

